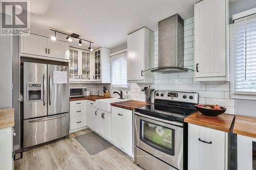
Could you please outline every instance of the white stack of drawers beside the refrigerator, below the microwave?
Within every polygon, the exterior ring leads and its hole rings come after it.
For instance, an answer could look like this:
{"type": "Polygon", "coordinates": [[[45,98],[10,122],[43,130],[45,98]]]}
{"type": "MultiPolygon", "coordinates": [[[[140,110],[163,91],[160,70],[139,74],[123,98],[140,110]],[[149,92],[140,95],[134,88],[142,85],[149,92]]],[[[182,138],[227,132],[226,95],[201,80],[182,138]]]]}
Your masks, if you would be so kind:
{"type": "Polygon", "coordinates": [[[87,100],[70,102],[70,133],[87,126],[87,100]]]}

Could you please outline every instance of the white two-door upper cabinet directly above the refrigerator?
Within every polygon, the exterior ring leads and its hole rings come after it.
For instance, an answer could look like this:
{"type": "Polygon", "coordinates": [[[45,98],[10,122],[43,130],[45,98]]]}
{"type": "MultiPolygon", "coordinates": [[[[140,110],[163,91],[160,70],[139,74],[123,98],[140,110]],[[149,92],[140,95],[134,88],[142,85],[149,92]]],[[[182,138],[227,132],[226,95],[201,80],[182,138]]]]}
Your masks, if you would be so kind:
{"type": "MultiPolygon", "coordinates": [[[[20,35],[20,53],[33,56],[44,56],[57,59],[69,59],[69,43],[52,41],[50,38],[32,34],[20,35]]],[[[44,58],[47,59],[47,58],[44,58]]]]}

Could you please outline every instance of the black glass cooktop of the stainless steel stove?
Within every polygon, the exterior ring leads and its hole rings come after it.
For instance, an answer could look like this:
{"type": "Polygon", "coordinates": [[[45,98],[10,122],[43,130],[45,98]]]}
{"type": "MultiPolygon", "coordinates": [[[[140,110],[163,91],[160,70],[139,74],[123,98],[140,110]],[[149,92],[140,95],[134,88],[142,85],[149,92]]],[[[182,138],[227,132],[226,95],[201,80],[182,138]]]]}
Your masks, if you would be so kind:
{"type": "Polygon", "coordinates": [[[143,106],[135,109],[136,112],[150,115],[153,117],[163,118],[167,120],[177,120],[184,122],[184,118],[194,112],[196,108],[194,105],[186,103],[172,103],[172,104],[152,104],[150,106],[143,106]]]}

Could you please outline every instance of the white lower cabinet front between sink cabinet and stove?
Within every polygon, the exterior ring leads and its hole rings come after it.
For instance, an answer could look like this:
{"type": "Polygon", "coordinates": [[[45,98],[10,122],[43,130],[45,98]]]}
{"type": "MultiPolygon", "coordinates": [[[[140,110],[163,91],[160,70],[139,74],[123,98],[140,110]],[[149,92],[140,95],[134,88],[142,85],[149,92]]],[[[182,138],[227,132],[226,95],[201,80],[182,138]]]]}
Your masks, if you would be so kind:
{"type": "Polygon", "coordinates": [[[112,106],[112,142],[133,155],[133,110],[112,106]]]}

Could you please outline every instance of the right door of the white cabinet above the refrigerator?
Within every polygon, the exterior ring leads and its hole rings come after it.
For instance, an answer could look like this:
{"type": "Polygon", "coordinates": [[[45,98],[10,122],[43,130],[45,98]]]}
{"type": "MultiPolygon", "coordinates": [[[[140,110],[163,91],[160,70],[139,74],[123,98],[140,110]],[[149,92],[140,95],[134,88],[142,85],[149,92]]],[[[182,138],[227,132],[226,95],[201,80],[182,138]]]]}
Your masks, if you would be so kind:
{"type": "Polygon", "coordinates": [[[69,43],[64,41],[52,41],[48,38],[48,57],[69,59],[69,43]]]}

